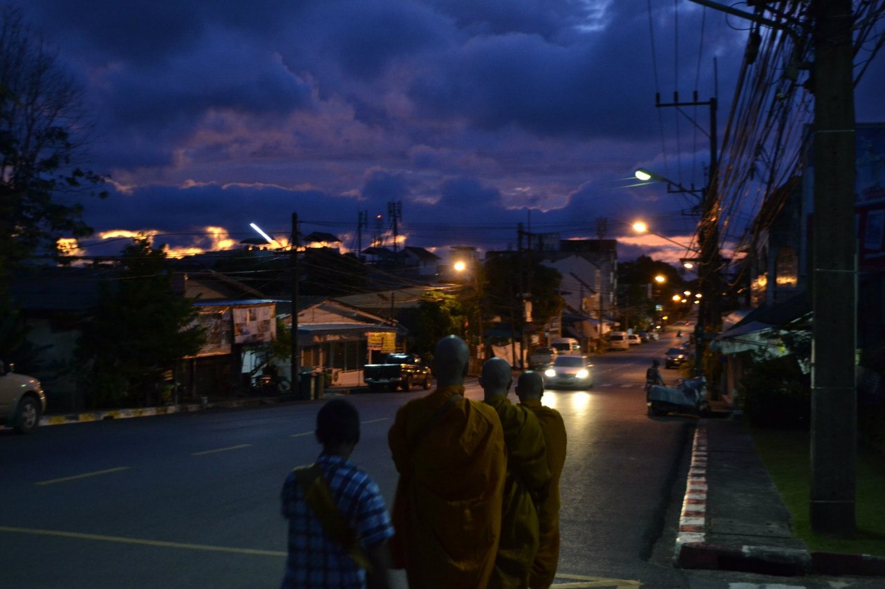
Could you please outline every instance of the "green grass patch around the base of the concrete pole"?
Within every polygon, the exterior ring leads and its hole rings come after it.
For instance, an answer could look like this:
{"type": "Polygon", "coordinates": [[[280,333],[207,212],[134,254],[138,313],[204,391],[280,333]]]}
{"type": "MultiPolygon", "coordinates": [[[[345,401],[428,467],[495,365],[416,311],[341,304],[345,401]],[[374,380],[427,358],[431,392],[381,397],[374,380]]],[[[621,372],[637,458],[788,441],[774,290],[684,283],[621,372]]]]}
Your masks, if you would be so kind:
{"type": "Polygon", "coordinates": [[[812,552],[885,556],[885,460],[858,448],[856,518],[858,529],[846,536],[812,532],[809,517],[811,458],[808,432],[750,430],[759,457],[793,516],[793,530],[812,552]]]}

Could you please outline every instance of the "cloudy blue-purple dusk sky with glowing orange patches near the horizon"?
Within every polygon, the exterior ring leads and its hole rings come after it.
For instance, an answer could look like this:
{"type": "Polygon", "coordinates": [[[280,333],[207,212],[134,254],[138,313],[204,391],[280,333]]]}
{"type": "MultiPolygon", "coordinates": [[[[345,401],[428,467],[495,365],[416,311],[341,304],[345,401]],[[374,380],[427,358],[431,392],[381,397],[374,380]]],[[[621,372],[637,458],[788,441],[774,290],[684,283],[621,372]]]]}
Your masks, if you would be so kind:
{"type": "MultiPolygon", "coordinates": [[[[709,142],[689,119],[705,128],[708,111],[656,108],[655,93],[719,96],[723,129],[748,37],[740,19],[687,0],[21,8],[85,88],[88,164],[112,178],[108,199],[86,202],[99,233],[84,255],[119,250],[99,239],[114,230],[198,251],[237,247],[255,222],[283,241],[293,212],[303,234],[353,249],[366,211],[366,248],[398,201],[400,245],[443,257],[515,248],[520,222],[596,238],[607,218],[622,261],[672,261],[680,249],[630,237],[627,221],[688,242],[690,198],[632,174],[703,186],[709,142]]],[[[881,88],[880,57],[857,88],[858,122],[885,121],[881,88]]]]}

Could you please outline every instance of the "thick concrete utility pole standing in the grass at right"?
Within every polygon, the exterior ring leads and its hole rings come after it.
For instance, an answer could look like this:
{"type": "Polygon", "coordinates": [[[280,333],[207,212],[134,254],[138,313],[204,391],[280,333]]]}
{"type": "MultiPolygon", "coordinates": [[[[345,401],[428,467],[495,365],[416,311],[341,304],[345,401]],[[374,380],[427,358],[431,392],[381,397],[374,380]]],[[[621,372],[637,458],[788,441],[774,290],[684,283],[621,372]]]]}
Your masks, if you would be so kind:
{"type": "Polygon", "coordinates": [[[813,0],[812,493],[814,532],[855,529],[858,407],[851,0],[813,0]]]}

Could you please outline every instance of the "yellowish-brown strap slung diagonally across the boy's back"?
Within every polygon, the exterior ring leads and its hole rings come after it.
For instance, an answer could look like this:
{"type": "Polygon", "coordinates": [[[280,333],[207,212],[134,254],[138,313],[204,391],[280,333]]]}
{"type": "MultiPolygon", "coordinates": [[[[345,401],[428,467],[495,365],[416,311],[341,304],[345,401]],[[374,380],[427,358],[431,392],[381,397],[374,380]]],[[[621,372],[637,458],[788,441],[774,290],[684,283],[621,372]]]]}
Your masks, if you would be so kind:
{"type": "Polygon", "coordinates": [[[344,552],[367,572],[372,571],[372,563],[366,555],[362,542],[356,532],[345,521],[341,510],[335,505],[332,490],[329,488],[323,471],[318,463],[310,466],[299,466],[295,470],[296,481],[304,491],[304,500],[313,509],[323,530],[340,545],[344,552]]]}

